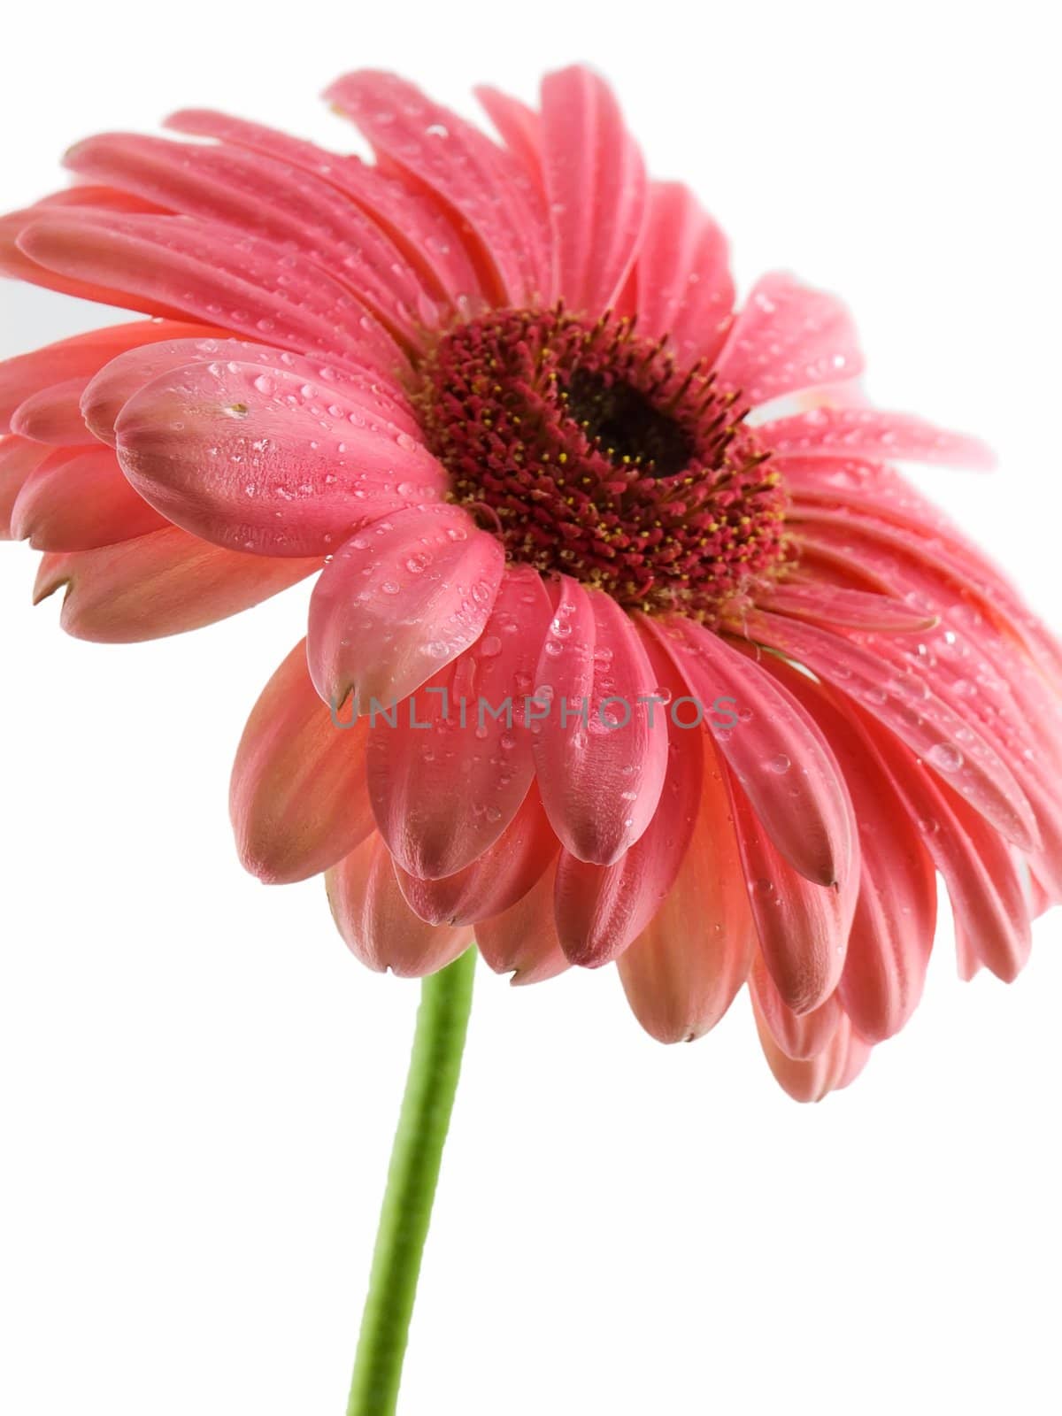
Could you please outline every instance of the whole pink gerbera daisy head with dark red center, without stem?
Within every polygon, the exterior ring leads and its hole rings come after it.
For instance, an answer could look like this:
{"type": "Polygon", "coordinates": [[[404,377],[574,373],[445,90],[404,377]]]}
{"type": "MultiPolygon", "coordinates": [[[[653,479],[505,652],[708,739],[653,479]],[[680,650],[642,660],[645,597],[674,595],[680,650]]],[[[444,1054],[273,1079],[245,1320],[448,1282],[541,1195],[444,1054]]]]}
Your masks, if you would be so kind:
{"type": "Polygon", "coordinates": [[[374,161],[183,112],[0,234],[150,316],[0,368],[0,515],[64,626],[320,572],[236,756],[246,867],[327,871],[374,969],[617,961],[663,1041],[748,984],[801,1100],[910,1015],[937,874],[963,974],[1012,978],[1062,891],[1062,656],[893,467],[984,449],[861,401],[833,296],[735,310],[586,69],[480,91],[498,140],[389,75],[329,98],[374,161]]]}

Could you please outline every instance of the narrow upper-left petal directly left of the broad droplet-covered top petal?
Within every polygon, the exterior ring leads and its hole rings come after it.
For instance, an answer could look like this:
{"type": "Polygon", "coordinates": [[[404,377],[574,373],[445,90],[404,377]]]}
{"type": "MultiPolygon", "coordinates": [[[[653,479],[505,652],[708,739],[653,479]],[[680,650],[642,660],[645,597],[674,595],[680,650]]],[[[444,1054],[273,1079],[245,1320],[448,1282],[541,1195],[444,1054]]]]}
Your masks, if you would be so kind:
{"type": "Polygon", "coordinates": [[[370,215],[453,309],[467,314],[483,303],[481,280],[464,248],[464,234],[432,193],[415,191],[358,157],[331,153],[262,123],[210,109],[183,109],[166,120],[166,127],[215,137],[321,177],[370,215]]]}

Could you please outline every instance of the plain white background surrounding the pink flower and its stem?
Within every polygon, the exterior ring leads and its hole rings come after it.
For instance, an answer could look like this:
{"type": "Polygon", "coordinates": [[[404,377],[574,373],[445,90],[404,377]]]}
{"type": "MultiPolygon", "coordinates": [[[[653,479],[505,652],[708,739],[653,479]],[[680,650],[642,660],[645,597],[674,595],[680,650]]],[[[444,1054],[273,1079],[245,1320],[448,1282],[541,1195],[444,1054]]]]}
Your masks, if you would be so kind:
{"type": "MultiPolygon", "coordinates": [[[[1049,6],[18,6],[0,205],[92,130],[227,108],[341,146],[316,93],[389,67],[472,112],[583,58],[743,286],[854,306],[881,404],[977,430],[923,486],[1062,620],[1049,6]]],[[[0,353],[102,323],[0,286],[0,353]]],[[[76,643],[0,547],[0,1410],[338,1413],[416,986],[361,969],[319,882],[244,877],[242,719],[306,590],[184,639],[76,643]]],[[[1011,988],[926,998],[799,1107],[741,1000],[666,1049],[612,970],[481,971],[405,1416],[1058,1412],[1061,927],[1011,988]]]]}

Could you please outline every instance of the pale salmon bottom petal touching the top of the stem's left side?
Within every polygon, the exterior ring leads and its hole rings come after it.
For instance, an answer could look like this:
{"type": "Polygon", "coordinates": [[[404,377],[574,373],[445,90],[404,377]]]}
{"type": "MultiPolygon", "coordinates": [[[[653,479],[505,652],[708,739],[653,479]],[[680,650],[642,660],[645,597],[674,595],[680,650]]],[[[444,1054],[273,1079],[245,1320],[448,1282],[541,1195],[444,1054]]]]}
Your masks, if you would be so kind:
{"type": "Polygon", "coordinates": [[[464,953],[469,927],[426,925],[398,888],[387,847],[375,834],[324,877],[338,932],[362,964],[399,978],[438,973],[464,953]]]}

